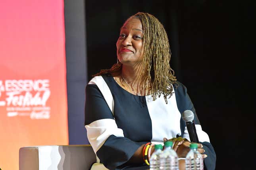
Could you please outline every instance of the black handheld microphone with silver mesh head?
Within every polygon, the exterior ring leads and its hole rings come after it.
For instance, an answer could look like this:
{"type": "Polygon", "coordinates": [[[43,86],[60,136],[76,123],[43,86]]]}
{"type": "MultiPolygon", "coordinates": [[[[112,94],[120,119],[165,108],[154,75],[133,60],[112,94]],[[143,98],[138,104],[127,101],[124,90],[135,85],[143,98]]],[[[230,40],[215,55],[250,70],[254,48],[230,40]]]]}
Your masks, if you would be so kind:
{"type": "Polygon", "coordinates": [[[181,114],[182,119],[186,122],[186,126],[189,132],[190,142],[199,143],[196,134],[196,127],[194,125],[194,113],[191,110],[185,110],[181,114]]]}

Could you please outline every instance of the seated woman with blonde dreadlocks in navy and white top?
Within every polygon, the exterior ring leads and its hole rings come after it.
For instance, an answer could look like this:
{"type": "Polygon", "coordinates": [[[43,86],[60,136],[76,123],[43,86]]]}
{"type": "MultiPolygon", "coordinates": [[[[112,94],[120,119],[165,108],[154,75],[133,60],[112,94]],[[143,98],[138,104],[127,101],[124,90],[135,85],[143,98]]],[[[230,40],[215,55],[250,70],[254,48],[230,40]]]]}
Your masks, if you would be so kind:
{"type": "MultiPolygon", "coordinates": [[[[164,26],[153,15],[137,13],[121,27],[116,47],[117,63],[94,75],[86,87],[85,127],[98,161],[110,170],[149,169],[149,160],[143,158],[145,145],[167,139],[184,158],[189,134],[181,113],[191,110],[204,169],[214,170],[216,155],[209,137],[186,87],[169,66],[164,26]]],[[[148,155],[153,152],[154,145],[148,155]]]]}

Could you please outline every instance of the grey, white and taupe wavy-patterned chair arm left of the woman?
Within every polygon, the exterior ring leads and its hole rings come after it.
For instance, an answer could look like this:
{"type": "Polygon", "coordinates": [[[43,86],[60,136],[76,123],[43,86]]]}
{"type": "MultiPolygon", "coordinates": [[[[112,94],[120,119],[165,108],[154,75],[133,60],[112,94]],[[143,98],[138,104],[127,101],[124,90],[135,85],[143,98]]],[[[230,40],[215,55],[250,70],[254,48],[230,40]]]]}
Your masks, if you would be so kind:
{"type": "Polygon", "coordinates": [[[19,149],[19,170],[89,170],[96,162],[90,145],[43,145],[19,149]]]}

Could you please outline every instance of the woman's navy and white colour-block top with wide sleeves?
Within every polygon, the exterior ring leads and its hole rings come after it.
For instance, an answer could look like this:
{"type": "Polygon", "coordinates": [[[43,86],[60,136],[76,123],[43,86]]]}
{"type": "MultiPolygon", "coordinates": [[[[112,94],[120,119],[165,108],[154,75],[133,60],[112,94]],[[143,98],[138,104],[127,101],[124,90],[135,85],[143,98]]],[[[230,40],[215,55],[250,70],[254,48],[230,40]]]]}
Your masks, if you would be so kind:
{"type": "Polygon", "coordinates": [[[189,140],[181,113],[191,110],[198,139],[208,155],[204,159],[205,169],[215,169],[216,155],[209,137],[202,130],[186,87],[177,83],[173,85],[173,95],[167,98],[168,104],[163,96],[153,101],[151,95],[131,94],[112,76],[96,76],[88,83],[85,127],[100,163],[111,170],[122,169],[142,144],[163,142],[164,137],[181,136],[189,140]]]}

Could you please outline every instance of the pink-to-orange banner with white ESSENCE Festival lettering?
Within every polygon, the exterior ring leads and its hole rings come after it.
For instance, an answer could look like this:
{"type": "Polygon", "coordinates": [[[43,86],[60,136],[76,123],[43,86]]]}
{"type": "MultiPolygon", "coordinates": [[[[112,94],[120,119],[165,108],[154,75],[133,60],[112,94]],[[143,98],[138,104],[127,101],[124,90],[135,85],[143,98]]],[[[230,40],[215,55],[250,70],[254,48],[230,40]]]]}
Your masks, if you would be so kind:
{"type": "Polygon", "coordinates": [[[0,168],[19,148],[67,145],[63,0],[0,2],[0,168]]]}

